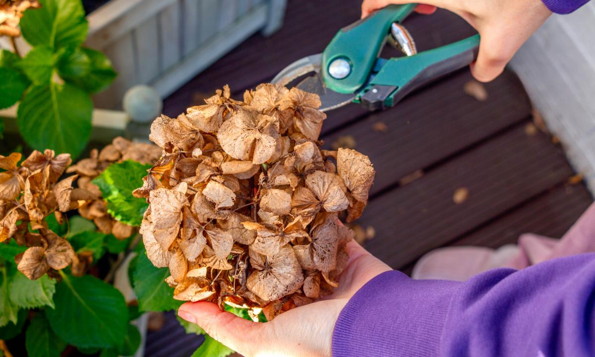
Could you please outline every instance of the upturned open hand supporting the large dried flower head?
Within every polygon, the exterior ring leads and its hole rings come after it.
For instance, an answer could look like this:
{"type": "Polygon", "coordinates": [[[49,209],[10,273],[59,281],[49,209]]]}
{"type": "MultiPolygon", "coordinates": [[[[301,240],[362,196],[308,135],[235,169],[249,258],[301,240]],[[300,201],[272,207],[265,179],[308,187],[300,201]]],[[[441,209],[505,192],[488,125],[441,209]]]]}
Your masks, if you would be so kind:
{"type": "Polygon", "coordinates": [[[283,312],[273,321],[244,320],[212,302],[184,303],[178,314],[246,357],[330,356],[334,324],[343,306],[369,280],[392,270],[354,241],[346,249],[349,262],[332,295],[283,312]]]}

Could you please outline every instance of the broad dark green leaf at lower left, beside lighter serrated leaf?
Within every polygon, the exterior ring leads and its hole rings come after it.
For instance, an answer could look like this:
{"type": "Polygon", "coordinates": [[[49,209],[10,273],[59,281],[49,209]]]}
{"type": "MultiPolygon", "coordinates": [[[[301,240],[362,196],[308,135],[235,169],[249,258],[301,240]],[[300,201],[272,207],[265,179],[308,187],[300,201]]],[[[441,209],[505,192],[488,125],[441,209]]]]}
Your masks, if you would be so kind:
{"type": "Polygon", "coordinates": [[[122,346],[128,328],[122,293],[91,275],[61,275],[54,294],[56,308],[47,310],[52,330],[77,347],[122,346]]]}

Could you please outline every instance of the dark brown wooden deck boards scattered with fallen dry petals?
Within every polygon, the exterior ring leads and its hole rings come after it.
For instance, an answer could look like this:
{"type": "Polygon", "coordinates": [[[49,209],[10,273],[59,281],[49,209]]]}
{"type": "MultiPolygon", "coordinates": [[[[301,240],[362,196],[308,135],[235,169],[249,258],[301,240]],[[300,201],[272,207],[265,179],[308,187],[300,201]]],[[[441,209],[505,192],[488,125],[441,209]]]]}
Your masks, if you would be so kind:
{"type": "MultiPolygon", "coordinates": [[[[240,96],[290,62],[321,52],[340,27],[359,18],[360,3],[290,1],[280,32],[250,37],[165,99],[165,114],[201,104],[223,84],[240,96]]],[[[408,29],[420,51],[474,33],[446,11],[412,15],[408,29]]],[[[374,227],[365,246],[395,269],[409,271],[441,246],[495,248],[525,232],[560,237],[593,201],[583,183],[568,183],[575,173],[562,148],[547,134],[527,130],[532,108],[515,74],[486,84],[484,102],[464,93],[469,80],[469,71],[461,70],[383,112],[349,105],[328,113],[325,146],[350,136],[374,163],[376,180],[358,224],[374,227]],[[378,122],[386,131],[374,130],[378,122]],[[459,188],[469,195],[456,204],[459,188]]],[[[190,356],[202,339],[184,335],[174,315],[167,316],[164,328],[149,333],[146,356],[190,356]]]]}

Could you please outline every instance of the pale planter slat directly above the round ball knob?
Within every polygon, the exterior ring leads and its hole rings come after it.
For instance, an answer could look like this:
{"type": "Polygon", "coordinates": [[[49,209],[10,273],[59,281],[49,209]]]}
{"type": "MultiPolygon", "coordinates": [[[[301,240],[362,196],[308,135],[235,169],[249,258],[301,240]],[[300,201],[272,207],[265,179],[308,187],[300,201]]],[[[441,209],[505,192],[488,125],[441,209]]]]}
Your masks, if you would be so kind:
{"type": "Polygon", "coordinates": [[[157,17],[151,17],[133,30],[136,42],[137,83],[146,84],[159,74],[159,34],[157,17]]]}

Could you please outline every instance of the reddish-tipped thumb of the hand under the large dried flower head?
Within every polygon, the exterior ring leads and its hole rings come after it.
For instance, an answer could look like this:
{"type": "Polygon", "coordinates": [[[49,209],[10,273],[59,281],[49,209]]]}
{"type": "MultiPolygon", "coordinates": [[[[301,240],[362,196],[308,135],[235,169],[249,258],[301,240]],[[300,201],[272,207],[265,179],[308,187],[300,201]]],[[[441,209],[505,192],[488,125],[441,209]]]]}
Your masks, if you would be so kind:
{"type": "Polygon", "coordinates": [[[179,317],[198,324],[209,336],[230,349],[248,355],[258,339],[262,324],[221,311],[212,302],[187,302],[180,306],[179,317]]]}

